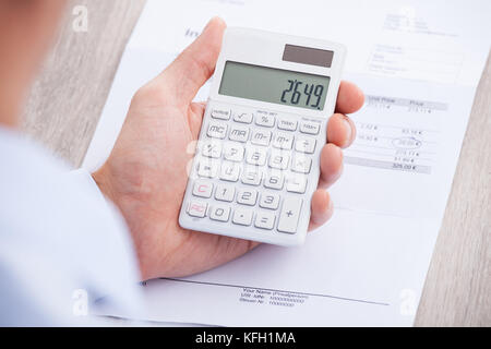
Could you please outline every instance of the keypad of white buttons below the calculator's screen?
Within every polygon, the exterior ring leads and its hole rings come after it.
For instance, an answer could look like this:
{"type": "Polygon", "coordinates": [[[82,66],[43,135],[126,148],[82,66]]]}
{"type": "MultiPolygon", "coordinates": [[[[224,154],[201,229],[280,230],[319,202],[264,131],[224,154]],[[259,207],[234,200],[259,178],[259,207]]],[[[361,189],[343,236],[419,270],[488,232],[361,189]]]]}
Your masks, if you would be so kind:
{"type": "Polygon", "coordinates": [[[211,108],[187,214],[216,224],[297,233],[321,122],[211,108]]]}

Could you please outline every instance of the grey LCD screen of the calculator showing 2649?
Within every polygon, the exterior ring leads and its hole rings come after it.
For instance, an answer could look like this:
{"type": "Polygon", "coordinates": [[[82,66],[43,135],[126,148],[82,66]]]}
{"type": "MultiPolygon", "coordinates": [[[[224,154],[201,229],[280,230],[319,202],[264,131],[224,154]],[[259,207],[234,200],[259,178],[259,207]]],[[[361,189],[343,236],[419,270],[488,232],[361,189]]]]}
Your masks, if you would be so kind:
{"type": "Polygon", "coordinates": [[[228,61],[218,93],[278,105],[324,110],[331,79],[228,61]]]}

